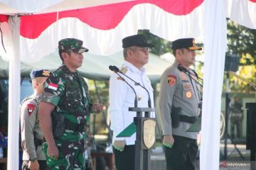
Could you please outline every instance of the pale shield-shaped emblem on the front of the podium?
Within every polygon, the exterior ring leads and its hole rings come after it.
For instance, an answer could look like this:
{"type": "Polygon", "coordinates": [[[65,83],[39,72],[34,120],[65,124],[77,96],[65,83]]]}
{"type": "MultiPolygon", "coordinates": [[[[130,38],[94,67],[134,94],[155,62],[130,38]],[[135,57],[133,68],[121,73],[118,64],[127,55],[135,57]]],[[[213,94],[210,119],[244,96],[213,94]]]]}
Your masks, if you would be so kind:
{"type": "Polygon", "coordinates": [[[145,120],[143,125],[143,142],[144,145],[149,149],[156,141],[156,121],[145,120]]]}

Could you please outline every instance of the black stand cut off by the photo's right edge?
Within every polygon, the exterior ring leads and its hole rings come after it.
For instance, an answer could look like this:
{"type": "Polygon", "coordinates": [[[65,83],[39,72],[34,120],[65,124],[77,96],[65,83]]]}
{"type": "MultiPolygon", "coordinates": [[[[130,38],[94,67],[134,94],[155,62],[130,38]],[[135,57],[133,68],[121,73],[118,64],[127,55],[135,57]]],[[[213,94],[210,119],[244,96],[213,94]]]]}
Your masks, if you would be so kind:
{"type": "Polygon", "coordinates": [[[256,103],[245,103],[246,120],[246,149],[250,149],[250,169],[256,169],[256,103]]]}

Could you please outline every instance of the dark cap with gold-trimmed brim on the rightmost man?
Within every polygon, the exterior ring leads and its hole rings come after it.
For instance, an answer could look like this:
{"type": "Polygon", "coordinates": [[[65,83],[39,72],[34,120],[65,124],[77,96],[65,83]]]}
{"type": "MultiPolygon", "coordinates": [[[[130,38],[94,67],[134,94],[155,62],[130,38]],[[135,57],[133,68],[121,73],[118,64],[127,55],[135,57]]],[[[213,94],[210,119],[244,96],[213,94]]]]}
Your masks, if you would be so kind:
{"type": "Polygon", "coordinates": [[[172,49],[177,50],[187,48],[188,50],[202,50],[202,47],[196,46],[194,38],[181,38],[172,42],[172,49]]]}

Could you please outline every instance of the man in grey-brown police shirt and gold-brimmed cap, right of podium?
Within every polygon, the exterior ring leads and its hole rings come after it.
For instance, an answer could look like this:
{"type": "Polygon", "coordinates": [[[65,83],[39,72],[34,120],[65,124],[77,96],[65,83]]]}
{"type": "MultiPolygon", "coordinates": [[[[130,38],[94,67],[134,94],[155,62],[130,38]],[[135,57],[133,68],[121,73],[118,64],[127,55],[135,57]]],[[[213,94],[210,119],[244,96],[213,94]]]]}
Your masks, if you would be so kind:
{"type": "Polygon", "coordinates": [[[186,130],[198,118],[201,102],[197,74],[189,67],[194,64],[196,46],[193,38],[183,38],[172,43],[175,62],[161,77],[159,94],[159,120],[165,147],[166,169],[195,169],[198,145],[197,135],[186,130]],[[182,69],[181,69],[182,68],[182,69]]]}

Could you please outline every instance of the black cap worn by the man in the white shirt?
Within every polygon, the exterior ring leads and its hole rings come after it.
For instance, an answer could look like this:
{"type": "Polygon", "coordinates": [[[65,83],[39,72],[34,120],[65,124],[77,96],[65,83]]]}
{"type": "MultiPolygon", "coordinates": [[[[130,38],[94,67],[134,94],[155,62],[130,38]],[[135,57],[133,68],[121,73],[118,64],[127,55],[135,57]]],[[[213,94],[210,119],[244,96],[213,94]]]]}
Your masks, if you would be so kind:
{"type": "Polygon", "coordinates": [[[145,35],[139,34],[139,35],[132,35],[129,37],[126,37],[122,39],[122,47],[132,47],[132,46],[138,46],[138,47],[154,47],[154,45],[149,44],[146,41],[145,35]]]}

